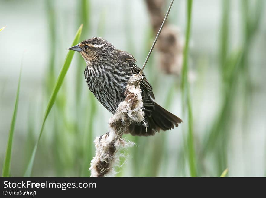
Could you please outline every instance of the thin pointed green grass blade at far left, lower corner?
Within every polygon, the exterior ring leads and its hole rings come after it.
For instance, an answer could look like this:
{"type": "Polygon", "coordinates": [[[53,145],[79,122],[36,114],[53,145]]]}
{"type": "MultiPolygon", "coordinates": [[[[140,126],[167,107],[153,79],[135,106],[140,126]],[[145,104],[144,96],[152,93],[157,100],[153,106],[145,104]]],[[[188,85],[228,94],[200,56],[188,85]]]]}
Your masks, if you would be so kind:
{"type": "Polygon", "coordinates": [[[7,146],[6,146],[5,161],[4,161],[4,165],[3,165],[2,177],[8,177],[9,173],[10,173],[13,134],[14,134],[15,122],[16,122],[17,111],[18,111],[20,79],[21,79],[21,69],[20,69],[19,80],[18,80],[16,102],[15,102],[15,107],[14,107],[14,112],[13,112],[10,130],[9,130],[8,142],[7,142],[7,146]]]}

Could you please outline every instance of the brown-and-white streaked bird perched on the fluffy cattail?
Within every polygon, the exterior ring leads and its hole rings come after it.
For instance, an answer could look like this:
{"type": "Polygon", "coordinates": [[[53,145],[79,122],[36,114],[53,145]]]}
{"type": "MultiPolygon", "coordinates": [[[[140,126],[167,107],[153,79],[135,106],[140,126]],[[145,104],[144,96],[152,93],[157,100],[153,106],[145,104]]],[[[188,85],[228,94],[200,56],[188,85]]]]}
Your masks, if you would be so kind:
{"type": "MultiPolygon", "coordinates": [[[[116,49],[100,37],[86,39],[68,49],[81,54],[86,62],[84,77],[89,90],[109,112],[115,114],[119,103],[125,99],[124,92],[128,79],[141,71],[134,56],[116,49]]],[[[160,130],[166,131],[177,127],[182,120],[154,101],[152,86],[144,73],[142,76],[140,88],[148,127],[141,123],[133,123],[129,125],[126,133],[150,136],[160,130]]]]}

